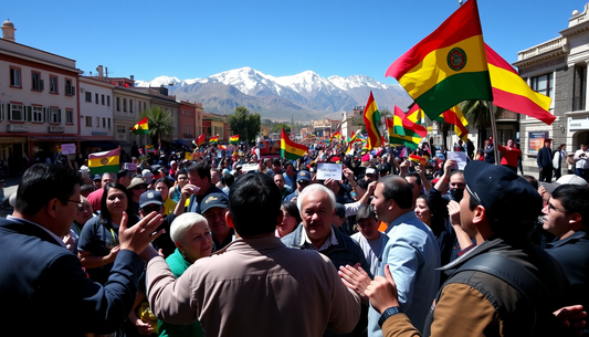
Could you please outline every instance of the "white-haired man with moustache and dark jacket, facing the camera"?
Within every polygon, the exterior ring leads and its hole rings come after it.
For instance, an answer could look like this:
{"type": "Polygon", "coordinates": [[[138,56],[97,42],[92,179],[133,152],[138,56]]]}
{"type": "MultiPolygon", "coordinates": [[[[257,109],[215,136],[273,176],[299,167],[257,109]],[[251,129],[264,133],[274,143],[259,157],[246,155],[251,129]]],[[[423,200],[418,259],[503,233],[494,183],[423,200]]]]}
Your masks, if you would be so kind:
{"type": "MultiPolygon", "coordinates": [[[[292,233],[282,238],[286,246],[318,251],[329,257],[336,268],[360,264],[366,273],[370,273],[358,243],[333,224],[336,200],[332,190],[318,183],[312,185],[303,190],[296,203],[303,221],[292,233]]],[[[366,316],[357,323],[349,336],[361,336],[366,330],[366,316]]],[[[326,336],[332,335],[333,331],[326,333],[326,336]]]]}

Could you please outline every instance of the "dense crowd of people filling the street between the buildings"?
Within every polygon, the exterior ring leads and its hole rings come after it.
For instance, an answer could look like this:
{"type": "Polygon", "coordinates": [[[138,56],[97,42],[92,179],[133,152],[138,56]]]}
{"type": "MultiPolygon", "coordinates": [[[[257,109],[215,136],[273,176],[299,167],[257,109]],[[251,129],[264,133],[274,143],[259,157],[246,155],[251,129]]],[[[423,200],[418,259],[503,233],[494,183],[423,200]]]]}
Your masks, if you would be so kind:
{"type": "Polygon", "coordinates": [[[464,169],[427,141],[306,143],[296,160],[240,145],[32,166],[0,220],[6,333],[587,334],[586,180],[518,176],[512,140],[498,165],[493,139],[459,141],[464,169]]]}

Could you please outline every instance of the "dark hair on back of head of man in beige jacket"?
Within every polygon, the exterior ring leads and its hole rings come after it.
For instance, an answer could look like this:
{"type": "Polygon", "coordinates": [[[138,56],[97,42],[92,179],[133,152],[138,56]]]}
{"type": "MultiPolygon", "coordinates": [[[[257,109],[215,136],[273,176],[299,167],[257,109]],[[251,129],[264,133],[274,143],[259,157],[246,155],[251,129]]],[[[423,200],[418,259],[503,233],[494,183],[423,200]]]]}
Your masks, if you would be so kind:
{"type": "Polygon", "coordinates": [[[281,212],[281,191],[267,175],[241,176],[229,191],[229,211],[240,236],[273,233],[281,212]]]}

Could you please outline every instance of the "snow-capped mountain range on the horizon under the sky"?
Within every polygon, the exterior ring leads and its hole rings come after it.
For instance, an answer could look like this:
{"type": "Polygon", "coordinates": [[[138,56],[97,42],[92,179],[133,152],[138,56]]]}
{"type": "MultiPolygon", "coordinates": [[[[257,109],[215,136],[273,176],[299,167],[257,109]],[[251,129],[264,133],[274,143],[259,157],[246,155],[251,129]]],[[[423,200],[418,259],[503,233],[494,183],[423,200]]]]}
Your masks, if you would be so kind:
{"type": "Polygon", "coordinates": [[[365,75],[327,78],[306,71],[292,76],[274,77],[251,67],[242,67],[206,78],[180,81],[159,76],[136,81],[136,86],[171,85],[177,99],[200,102],[206,113],[227,115],[238,106],[272,120],[340,119],[343,113],[364,106],[370,91],[379,109],[402,109],[412,102],[398,84],[383,84],[365,75]]]}

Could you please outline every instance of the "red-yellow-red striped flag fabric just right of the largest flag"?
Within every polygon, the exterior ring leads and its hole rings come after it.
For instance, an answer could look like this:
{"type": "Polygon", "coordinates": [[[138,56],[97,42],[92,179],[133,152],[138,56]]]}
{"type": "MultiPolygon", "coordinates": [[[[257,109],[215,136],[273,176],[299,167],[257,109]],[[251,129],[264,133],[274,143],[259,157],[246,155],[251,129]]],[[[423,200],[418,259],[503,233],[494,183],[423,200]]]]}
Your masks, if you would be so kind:
{"type": "Polygon", "coordinates": [[[549,113],[550,97],[533,91],[513,66],[486,44],[485,52],[493,85],[493,104],[553,124],[556,116],[549,113]]]}

